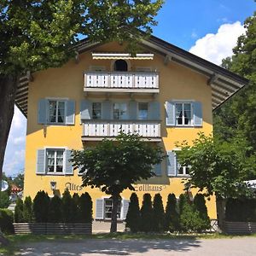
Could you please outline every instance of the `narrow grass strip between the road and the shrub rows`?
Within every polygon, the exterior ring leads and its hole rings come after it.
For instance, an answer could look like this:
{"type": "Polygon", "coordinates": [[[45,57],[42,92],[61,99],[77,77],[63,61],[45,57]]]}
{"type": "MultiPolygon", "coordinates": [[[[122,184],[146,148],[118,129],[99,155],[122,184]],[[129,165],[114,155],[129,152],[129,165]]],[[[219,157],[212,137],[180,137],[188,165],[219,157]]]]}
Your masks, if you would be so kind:
{"type": "MultiPolygon", "coordinates": [[[[93,234],[93,235],[8,235],[5,236],[9,239],[9,246],[0,247],[0,255],[9,256],[15,255],[18,252],[20,244],[27,242],[39,242],[39,241],[82,241],[85,239],[118,239],[118,240],[168,240],[168,239],[223,239],[245,236],[229,236],[224,234],[212,233],[212,234],[131,234],[125,232],[118,232],[114,234],[93,234]]],[[[250,237],[256,237],[256,234],[250,237]]]]}

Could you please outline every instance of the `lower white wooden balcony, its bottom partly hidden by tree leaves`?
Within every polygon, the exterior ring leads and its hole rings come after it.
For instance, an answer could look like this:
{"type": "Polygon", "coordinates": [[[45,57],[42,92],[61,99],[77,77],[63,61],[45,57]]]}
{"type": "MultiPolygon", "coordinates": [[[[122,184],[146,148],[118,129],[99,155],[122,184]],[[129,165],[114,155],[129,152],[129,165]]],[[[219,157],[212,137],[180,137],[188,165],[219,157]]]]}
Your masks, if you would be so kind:
{"type": "Polygon", "coordinates": [[[137,133],[144,141],[160,142],[158,120],[86,120],[83,123],[82,141],[101,141],[104,137],[115,138],[119,132],[137,133]]]}

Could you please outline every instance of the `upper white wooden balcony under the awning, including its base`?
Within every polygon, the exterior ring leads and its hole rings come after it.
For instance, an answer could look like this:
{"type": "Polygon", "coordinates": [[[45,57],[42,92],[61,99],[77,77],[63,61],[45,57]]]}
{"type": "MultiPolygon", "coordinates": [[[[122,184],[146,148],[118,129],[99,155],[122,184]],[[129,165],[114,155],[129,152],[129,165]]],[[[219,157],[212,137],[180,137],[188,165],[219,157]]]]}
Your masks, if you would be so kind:
{"type": "Polygon", "coordinates": [[[159,93],[159,75],[153,72],[87,72],[84,92],[159,93]]]}

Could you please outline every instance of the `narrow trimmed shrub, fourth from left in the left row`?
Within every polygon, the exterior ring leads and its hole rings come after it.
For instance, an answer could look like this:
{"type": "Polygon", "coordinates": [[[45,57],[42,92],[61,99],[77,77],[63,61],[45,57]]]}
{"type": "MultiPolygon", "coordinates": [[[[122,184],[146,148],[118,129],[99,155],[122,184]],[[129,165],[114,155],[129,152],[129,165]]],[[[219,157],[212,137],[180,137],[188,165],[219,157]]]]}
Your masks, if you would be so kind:
{"type": "Polygon", "coordinates": [[[62,222],[62,201],[58,195],[55,195],[49,201],[48,222],[50,223],[62,222]]]}

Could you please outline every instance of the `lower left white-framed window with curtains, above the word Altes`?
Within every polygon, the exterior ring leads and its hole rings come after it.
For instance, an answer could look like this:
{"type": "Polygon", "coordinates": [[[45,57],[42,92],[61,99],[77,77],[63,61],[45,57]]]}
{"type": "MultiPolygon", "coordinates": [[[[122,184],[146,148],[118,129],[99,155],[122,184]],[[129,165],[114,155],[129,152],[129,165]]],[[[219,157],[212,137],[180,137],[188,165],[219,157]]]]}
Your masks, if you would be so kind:
{"type": "Polygon", "coordinates": [[[48,173],[63,172],[64,149],[46,149],[46,166],[48,173]]]}

